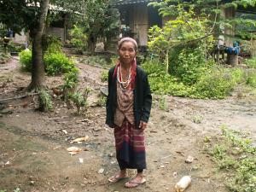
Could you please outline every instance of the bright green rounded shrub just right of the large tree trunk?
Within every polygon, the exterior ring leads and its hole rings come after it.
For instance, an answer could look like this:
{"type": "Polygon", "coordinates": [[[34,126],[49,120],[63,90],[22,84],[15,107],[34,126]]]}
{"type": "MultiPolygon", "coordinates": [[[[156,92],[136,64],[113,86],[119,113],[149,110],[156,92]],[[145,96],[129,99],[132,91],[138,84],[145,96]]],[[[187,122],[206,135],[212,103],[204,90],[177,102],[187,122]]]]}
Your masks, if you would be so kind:
{"type": "Polygon", "coordinates": [[[44,55],[45,72],[49,75],[67,73],[74,67],[74,62],[65,54],[56,52],[44,55]]]}

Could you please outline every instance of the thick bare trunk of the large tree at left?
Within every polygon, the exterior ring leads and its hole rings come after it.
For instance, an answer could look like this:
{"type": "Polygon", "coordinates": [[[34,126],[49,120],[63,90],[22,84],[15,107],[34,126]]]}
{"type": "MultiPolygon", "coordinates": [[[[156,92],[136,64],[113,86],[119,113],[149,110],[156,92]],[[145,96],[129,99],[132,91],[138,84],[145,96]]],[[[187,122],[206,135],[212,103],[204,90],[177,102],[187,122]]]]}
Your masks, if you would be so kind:
{"type": "Polygon", "coordinates": [[[44,85],[44,61],[42,38],[44,34],[45,20],[49,8],[49,0],[44,0],[40,4],[41,15],[38,27],[31,29],[32,37],[32,82],[28,85],[27,90],[41,88],[44,85]]]}

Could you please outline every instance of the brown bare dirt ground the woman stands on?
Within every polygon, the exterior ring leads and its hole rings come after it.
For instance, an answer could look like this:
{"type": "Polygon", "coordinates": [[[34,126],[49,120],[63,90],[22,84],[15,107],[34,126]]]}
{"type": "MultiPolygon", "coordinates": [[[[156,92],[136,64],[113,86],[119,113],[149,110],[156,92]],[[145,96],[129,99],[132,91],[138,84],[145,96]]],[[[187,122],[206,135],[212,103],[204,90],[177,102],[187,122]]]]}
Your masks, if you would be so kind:
{"type": "MultiPolygon", "coordinates": [[[[0,100],[22,96],[30,82],[21,73],[19,58],[0,65],[0,100]],[[8,79],[8,80],[6,80],[8,79]],[[3,84],[7,82],[7,84],[3,84]]],[[[194,100],[165,96],[166,110],[161,110],[154,96],[150,122],[146,130],[148,169],[147,183],[137,189],[125,189],[125,181],[108,183],[118,171],[115,160],[113,130],[105,125],[105,108],[96,106],[100,88],[106,86],[100,76],[103,70],[78,63],[80,87],[89,86],[90,108],[84,115],[67,109],[55,96],[55,108],[40,113],[36,96],[9,100],[0,105],[0,190],[13,191],[174,191],[184,175],[192,177],[187,192],[224,192],[223,179],[214,163],[204,153],[204,137],[216,136],[219,127],[248,132],[256,141],[256,100],[253,97],[194,100]],[[1,110],[1,109],[0,109],[1,110]],[[66,133],[63,131],[67,131],[66,133]],[[71,144],[77,137],[88,136],[85,143],[71,144]],[[83,148],[70,155],[66,148],[83,148]],[[191,164],[184,160],[195,157],[191,164]],[[80,162],[83,160],[83,162],[80,162]]],[[[61,77],[47,77],[49,88],[60,85],[61,77]]],[[[136,172],[129,171],[129,176],[136,172]]]]}

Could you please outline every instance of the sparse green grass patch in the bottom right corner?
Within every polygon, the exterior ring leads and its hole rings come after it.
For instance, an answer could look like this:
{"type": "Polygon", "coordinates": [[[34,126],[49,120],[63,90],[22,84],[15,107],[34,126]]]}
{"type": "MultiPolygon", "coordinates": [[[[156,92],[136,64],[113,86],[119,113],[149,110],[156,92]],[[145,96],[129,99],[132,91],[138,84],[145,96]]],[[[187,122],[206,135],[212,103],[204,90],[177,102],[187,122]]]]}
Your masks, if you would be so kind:
{"type": "Polygon", "coordinates": [[[223,173],[230,191],[254,192],[256,188],[256,148],[241,132],[221,127],[222,137],[205,139],[207,153],[223,173]]]}

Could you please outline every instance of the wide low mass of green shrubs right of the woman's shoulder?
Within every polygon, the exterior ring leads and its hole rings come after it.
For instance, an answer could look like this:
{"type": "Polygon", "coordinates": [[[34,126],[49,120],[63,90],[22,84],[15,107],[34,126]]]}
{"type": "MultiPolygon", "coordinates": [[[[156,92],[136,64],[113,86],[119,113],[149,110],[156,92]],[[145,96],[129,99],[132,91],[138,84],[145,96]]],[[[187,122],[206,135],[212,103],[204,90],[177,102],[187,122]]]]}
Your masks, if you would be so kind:
{"type": "MultiPolygon", "coordinates": [[[[235,84],[244,80],[244,72],[237,68],[224,70],[216,68],[214,65],[205,64],[202,71],[196,73],[197,77],[190,76],[189,79],[197,79],[195,84],[183,83],[181,79],[166,74],[165,67],[154,61],[146,61],[142,67],[148,73],[148,81],[151,90],[156,94],[168,94],[172,96],[189,96],[193,98],[213,98],[222,99],[230,94],[235,84]]],[[[194,79],[194,80],[195,80],[194,79]]]]}

